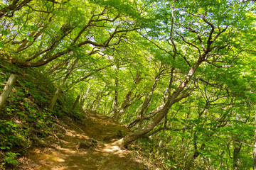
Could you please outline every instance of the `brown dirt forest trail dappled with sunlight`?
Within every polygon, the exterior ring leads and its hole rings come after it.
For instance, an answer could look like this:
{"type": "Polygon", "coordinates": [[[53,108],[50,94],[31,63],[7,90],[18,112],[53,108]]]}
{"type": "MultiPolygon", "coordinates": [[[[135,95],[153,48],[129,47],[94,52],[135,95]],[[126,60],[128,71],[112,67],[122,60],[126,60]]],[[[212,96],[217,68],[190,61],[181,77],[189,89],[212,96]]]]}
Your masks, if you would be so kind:
{"type": "Polygon", "coordinates": [[[31,149],[21,169],[144,169],[131,152],[110,145],[110,142],[127,133],[124,125],[98,113],[87,113],[87,117],[84,124],[68,120],[68,127],[65,127],[63,137],[59,137],[60,146],[57,149],[31,149]]]}

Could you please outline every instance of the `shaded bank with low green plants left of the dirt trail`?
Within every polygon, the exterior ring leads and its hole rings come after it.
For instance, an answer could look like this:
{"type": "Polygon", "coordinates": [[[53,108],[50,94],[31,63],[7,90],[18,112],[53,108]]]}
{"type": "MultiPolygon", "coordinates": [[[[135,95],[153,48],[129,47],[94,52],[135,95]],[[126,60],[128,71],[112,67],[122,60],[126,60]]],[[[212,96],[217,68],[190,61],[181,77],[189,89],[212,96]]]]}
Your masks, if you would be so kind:
{"type": "Polygon", "coordinates": [[[18,164],[18,156],[26,154],[28,148],[48,145],[47,137],[57,131],[56,118],[67,115],[80,119],[81,115],[78,109],[70,111],[75,101],[70,94],[61,94],[53,111],[48,109],[55,86],[46,75],[3,60],[0,63],[0,91],[12,73],[18,75],[0,112],[0,169],[6,169],[18,164]]]}

